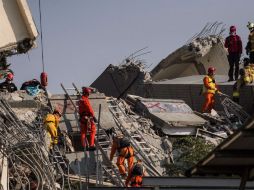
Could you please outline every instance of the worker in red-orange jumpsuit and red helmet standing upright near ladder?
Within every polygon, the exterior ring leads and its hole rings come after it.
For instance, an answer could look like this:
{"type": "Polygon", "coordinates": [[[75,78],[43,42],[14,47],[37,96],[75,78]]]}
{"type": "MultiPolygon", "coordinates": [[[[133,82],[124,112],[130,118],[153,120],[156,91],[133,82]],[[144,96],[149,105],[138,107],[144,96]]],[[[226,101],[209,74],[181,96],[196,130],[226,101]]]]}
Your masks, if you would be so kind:
{"type": "Polygon", "coordinates": [[[81,132],[81,143],[84,148],[90,151],[95,150],[94,139],[96,133],[95,122],[97,119],[94,116],[93,108],[89,101],[89,95],[91,89],[87,87],[82,88],[82,97],[79,101],[79,118],[80,118],[80,132],[81,132]],[[87,147],[87,133],[90,134],[89,147],[87,147]]]}

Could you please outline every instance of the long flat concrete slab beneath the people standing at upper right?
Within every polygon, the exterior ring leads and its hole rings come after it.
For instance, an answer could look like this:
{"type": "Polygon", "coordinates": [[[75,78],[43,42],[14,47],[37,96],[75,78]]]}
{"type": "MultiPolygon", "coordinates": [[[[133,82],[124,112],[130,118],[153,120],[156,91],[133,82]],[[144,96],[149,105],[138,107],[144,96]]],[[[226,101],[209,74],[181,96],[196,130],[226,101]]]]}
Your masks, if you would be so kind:
{"type": "MultiPolygon", "coordinates": [[[[203,86],[204,75],[176,78],[172,80],[157,81],[142,85],[145,90],[137,91],[136,95],[146,98],[158,99],[182,99],[193,110],[201,112],[204,96],[200,94],[203,86]]],[[[218,75],[216,81],[220,91],[232,97],[234,82],[227,81],[227,76],[218,75]]],[[[240,105],[249,114],[254,112],[254,84],[244,86],[240,90],[240,105]]],[[[223,97],[215,97],[215,110],[221,111],[223,107],[220,102],[223,97]]]]}

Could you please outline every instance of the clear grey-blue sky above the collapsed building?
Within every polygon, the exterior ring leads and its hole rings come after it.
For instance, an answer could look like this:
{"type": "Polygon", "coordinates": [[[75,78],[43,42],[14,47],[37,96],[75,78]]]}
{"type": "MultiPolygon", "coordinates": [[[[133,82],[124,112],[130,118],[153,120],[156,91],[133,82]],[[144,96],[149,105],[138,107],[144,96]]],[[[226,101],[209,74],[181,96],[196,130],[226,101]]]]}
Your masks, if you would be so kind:
{"type": "MultiPolygon", "coordinates": [[[[39,0],[28,0],[39,30],[39,0]]],[[[41,0],[45,71],[51,93],[90,85],[109,64],[117,65],[138,49],[150,69],[181,47],[208,22],[237,27],[247,43],[253,0],[41,0]]],[[[228,30],[225,32],[227,35],[228,30]]],[[[28,54],[8,59],[18,88],[39,79],[40,38],[28,54]]]]}

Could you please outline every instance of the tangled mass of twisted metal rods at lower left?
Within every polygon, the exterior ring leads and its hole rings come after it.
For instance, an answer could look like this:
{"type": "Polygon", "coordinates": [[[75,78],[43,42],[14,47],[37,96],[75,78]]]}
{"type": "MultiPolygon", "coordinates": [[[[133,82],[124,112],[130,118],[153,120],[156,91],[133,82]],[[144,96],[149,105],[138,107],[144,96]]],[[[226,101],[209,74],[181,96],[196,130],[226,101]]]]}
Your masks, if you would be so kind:
{"type": "Polygon", "coordinates": [[[20,121],[3,99],[0,126],[0,159],[8,160],[10,189],[30,189],[34,184],[36,189],[56,189],[43,127],[20,121]]]}

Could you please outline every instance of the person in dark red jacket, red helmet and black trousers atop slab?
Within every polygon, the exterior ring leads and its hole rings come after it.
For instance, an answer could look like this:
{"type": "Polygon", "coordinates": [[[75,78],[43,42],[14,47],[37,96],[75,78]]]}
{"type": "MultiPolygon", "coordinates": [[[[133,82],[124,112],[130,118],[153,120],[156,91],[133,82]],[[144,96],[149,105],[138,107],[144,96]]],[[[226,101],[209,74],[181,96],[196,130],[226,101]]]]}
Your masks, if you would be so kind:
{"type": "Polygon", "coordinates": [[[237,80],[239,75],[239,61],[242,54],[242,40],[236,34],[235,26],[230,26],[229,36],[226,38],[224,46],[228,49],[228,81],[237,80]],[[235,78],[233,78],[233,75],[235,78]]]}

